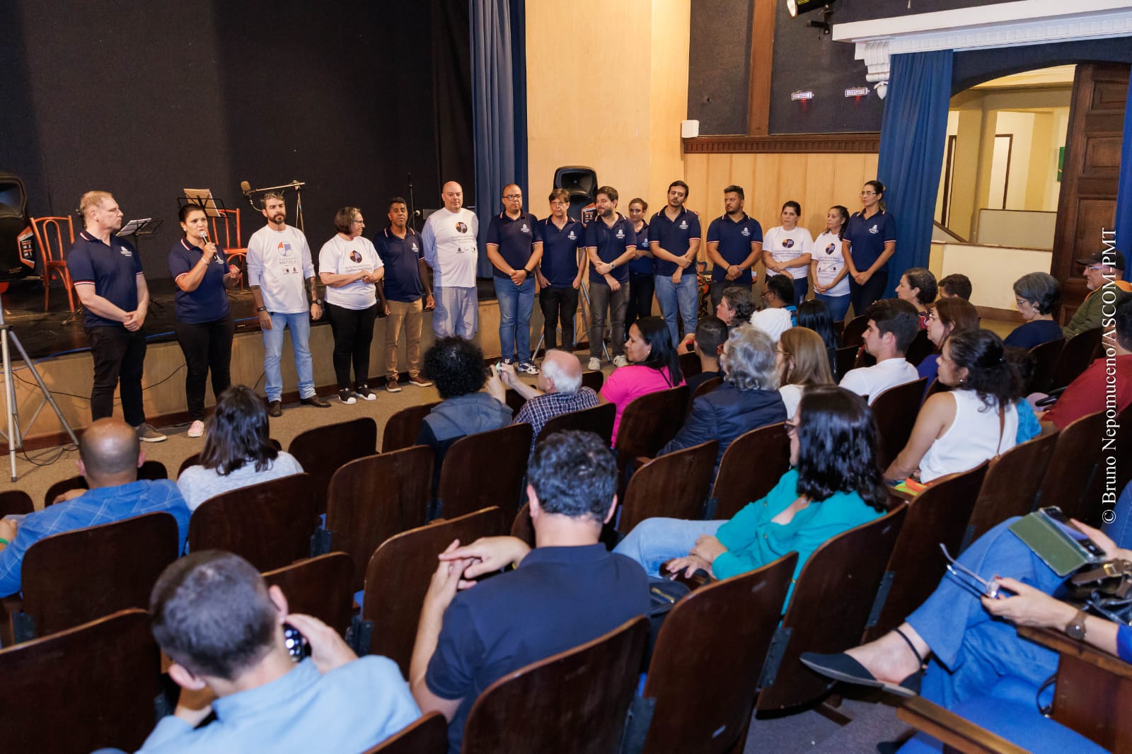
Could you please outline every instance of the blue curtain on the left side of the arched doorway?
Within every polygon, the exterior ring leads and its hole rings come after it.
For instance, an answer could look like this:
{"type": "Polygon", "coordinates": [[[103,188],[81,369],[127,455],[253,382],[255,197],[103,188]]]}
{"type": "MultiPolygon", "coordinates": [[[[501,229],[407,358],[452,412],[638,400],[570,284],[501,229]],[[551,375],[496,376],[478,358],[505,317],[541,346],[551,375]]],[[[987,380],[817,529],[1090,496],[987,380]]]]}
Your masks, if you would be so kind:
{"type": "Polygon", "coordinates": [[[886,188],[884,203],[897,219],[889,297],[895,294],[900,273],[927,267],[947,134],[951,62],[951,50],[892,57],[876,169],[886,188]]]}

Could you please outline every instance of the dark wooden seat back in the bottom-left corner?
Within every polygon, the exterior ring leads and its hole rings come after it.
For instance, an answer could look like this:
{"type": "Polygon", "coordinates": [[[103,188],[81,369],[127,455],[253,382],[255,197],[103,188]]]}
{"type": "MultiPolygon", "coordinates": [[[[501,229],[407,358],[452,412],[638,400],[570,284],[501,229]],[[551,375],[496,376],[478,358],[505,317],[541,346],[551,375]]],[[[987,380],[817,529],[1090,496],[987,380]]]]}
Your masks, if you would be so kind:
{"type": "Polygon", "coordinates": [[[0,650],[6,752],[142,747],[156,722],[161,652],[145,610],[0,650]]]}

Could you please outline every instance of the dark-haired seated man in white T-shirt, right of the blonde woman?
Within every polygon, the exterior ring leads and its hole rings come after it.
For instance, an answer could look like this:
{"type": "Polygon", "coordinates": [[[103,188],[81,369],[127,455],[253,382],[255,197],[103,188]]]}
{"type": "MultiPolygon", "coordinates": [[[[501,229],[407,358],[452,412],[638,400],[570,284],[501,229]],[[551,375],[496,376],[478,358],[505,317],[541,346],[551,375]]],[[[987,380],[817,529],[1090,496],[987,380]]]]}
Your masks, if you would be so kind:
{"type": "Polygon", "coordinates": [[[841,387],[858,395],[876,396],[897,385],[919,379],[916,367],[908,363],[904,352],[919,332],[916,307],[900,299],[881,299],[865,310],[865,350],[876,359],[872,367],[850,369],[841,378],[841,387]]]}

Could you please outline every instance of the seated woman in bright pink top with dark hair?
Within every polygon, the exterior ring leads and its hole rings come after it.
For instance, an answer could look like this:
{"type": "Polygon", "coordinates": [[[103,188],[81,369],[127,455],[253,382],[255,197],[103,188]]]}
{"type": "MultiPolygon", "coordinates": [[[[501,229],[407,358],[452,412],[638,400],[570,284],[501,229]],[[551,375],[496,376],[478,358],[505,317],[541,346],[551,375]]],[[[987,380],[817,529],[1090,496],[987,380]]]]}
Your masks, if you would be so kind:
{"type": "Polygon", "coordinates": [[[601,403],[616,403],[614,417],[614,445],[617,428],[621,425],[625,406],[635,399],[684,384],[680,359],[676,354],[668,325],[660,317],[643,317],[629,327],[625,355],[629,366],[615,369],[601,387],[601,403]]]}

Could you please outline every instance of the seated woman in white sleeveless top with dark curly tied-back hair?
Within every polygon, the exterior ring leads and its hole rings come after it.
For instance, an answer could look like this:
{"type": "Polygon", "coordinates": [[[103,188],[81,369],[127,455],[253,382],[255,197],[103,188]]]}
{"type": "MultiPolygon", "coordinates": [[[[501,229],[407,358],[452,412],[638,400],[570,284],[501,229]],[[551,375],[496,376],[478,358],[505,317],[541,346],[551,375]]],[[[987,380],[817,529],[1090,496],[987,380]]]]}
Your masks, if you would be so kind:
{"type": "Polygon", "coordinates": [[[968,471],[1014,447],[1022,394],[1018,367],[989,329],[955,331],[943,343],[938,379],[953,389],[920,408],[908,444],[885,479],[923,482],[968,471]]]}

